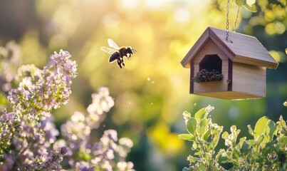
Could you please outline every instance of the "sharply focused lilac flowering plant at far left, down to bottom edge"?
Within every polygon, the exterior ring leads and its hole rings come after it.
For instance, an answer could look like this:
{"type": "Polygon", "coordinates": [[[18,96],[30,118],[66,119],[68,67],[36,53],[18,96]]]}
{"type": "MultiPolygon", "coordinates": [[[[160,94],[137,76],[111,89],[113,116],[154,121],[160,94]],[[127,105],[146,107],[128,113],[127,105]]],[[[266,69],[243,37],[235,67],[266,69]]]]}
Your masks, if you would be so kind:
{"type": "Polygon", "coordinates": [[[68,102],[76,63],[61,50],[40,70],[19,68],[19,86],[9,91],[11,112],[0,112],[0,170],[61,170],[65,146],[52,149],[59,135],[51,120],[52,108],[68,102]]]}

